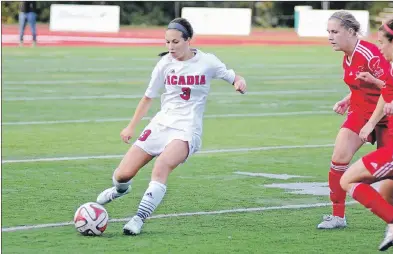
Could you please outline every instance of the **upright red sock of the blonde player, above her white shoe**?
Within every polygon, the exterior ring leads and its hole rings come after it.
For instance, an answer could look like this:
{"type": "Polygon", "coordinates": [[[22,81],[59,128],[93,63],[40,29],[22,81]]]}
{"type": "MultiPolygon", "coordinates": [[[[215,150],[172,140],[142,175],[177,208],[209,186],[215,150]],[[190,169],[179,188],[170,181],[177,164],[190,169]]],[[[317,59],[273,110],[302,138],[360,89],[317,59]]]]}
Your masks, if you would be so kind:
{"type": "Polygon", "coordinates": [[[347,168],[347,163],[336,163],[332,161],[329,172],[330,200],[333,206],[333,216],[339,216],[341,218],[344,218],[345,215],[345,198],[347,193],[341,188],[340,179],[347,168]]]}

